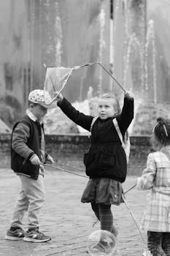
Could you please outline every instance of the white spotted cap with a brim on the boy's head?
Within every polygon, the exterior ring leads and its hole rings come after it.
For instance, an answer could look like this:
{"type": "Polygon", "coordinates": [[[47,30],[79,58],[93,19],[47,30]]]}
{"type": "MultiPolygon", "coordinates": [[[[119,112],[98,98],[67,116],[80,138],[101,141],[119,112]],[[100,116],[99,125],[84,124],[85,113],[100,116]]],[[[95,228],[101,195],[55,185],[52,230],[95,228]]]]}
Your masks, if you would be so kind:
{"type": "Polygon", "coordinates": [[[41,105],[44,108],[56,108],[57,104],[47,105],[45,102],[51,102],[50,94],[47,94],[47,91],[36,89],[31,91],[28,95],[28,100],[30,102],[41,105]]]}

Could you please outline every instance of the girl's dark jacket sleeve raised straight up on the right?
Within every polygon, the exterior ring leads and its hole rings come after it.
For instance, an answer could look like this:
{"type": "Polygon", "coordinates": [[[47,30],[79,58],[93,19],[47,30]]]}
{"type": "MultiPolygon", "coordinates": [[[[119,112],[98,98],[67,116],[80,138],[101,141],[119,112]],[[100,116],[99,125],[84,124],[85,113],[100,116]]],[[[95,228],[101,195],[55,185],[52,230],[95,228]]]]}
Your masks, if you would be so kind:
{"type": "Polygon", "coordinates": [[[134,118],[134,98],[124,97],[123,109],[120,116],[117,116],[117,122],[120,127],[122,134],[125,134],[131,121],[134,118]]]}

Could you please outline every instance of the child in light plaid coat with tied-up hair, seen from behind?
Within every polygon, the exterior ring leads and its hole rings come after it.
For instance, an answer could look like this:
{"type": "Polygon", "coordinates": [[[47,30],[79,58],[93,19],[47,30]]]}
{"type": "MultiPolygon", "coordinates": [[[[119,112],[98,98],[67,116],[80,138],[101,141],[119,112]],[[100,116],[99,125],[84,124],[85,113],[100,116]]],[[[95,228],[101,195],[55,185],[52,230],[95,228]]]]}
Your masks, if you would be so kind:
{"type": "Polygon", "coordinates": [[[170,120],[158,118],[152,133],[157,151],[147,157],[147,168],[137,180],[139,189],[152,189],[142,217],[152,256],[170,255],[170,120]]]}

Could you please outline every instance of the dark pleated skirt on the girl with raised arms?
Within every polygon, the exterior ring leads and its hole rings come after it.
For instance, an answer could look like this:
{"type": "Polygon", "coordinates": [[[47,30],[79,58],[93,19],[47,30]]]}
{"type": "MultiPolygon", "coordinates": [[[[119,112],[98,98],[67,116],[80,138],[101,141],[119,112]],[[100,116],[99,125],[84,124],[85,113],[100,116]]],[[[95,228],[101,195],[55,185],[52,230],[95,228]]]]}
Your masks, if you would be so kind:
{"type": "Polygon", "coordinates": [[[82,194],[82,203],[103,203],[105,205],[123,203],[122,184],[111,178],[90,178],[82,194]]]}

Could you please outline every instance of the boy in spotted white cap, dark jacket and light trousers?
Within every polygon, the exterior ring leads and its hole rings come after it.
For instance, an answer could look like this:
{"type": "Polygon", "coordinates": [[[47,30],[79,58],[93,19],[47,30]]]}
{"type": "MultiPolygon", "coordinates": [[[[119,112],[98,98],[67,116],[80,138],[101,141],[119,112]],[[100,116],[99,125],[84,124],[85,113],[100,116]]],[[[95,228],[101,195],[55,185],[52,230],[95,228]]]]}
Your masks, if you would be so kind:
{"type": "Polygon", "coordinates": [[[47,108],[43,90],[31,91],[28,95],[29,108],[12,129],[11,167],[20,178],[20,196],[12,216],[11,227],[6,239],[30,242],[50,241],[49,236],[39,232],[39,210],[45,203],[44,175],[41,163],[53,163],[53,157],[45,151],[45,133],[42,118],[47,108]],[[22,220],[28,211],[28,231],[22,229],[22,220]]]}

